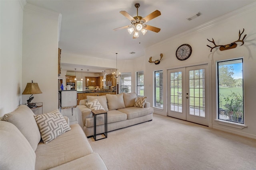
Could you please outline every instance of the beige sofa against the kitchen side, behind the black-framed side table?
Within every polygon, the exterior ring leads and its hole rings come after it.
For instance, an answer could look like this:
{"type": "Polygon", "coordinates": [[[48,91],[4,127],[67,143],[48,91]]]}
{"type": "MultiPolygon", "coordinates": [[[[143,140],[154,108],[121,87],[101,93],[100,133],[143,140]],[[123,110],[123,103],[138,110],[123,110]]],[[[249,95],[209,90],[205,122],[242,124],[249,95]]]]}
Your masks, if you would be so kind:
{"type": "MultiPolygon", "coordinates": [[[[146,97],[144,97],[145,99],[146,97]]],[[[136,93],[106,94],[105,96],[87,96],[86,100],[80,100],[77,106],[77,121],[84,129],[87,137],[94,135],[94,118],[91,109],[87,107],[88,102],[98,100],[101,106],[108,112],[107,131],[136,125],[138,123],[151,121],[153,108],[150,103],[144,101],[142,107],[134,107],[138,102],[136,93]],[[86,104],[87,103],[87,104],[86,104]]],[[[141,99],[141,98],[140,98],[141,99]]],[[[104,115],[97,116],[97,134],[104,133],[104,115]]]]}

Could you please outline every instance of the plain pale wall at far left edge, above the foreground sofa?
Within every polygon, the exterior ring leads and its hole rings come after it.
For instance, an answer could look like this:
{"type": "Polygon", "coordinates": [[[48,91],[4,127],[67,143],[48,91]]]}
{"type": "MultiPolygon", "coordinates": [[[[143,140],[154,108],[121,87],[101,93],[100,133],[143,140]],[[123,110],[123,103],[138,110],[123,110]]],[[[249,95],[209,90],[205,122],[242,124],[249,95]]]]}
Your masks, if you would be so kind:
{"type": "Polygon", "coordinates": [[[0,1],[0,116],[21,104],[22,1],[0,1]]]}

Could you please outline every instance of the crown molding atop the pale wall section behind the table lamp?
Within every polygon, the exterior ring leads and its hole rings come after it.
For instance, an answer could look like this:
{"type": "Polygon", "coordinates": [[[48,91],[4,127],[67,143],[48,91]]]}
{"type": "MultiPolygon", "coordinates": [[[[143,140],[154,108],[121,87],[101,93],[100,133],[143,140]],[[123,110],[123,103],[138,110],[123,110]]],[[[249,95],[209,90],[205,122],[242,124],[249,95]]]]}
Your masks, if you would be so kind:
{"type": "Polygon", "coordinates": [[[40,14],[41,16],[47,17],[47,18],[52,18],[52,19],[59,19],[60,13],[54,12],[52,10],[48,10],[45,8],[41,8],[38,6],[34,6],[32,4],[27,3],[24,6],[24,12],[30,12],[33,14],[40,14]]]}

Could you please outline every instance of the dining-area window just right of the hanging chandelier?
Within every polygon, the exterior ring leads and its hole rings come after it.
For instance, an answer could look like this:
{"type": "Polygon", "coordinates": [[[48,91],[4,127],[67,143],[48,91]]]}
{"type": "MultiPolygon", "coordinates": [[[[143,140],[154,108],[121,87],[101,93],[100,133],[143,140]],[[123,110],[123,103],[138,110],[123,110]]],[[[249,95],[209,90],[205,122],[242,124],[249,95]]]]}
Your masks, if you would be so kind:
{"type": "Polygon", "coordinates": [[[120,92],[121,93],[132,92],[132,74],[130,72],[121,73],[120,92]]]}

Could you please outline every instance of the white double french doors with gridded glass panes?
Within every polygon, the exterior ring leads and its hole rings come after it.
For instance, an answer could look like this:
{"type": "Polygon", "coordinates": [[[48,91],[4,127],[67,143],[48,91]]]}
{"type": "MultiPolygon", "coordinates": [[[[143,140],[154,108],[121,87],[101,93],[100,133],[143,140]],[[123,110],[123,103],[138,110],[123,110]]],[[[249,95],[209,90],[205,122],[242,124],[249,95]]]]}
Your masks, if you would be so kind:
{"type": "Polygon", "coordinates": [[[168,116],[208,126],[208,64],[168,70],[168,116]]]}

